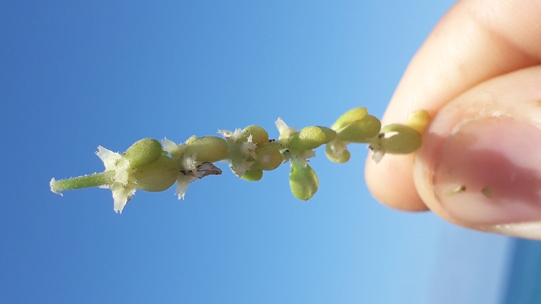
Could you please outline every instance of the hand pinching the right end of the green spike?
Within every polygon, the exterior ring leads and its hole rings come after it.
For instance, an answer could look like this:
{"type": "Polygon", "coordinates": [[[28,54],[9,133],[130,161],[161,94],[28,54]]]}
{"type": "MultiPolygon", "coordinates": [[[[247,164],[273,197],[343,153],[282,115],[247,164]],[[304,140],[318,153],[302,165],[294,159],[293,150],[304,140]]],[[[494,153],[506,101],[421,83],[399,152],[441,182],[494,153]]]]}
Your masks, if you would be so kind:
{"type": "Polygon", "coordinates": [[[367,159],[383,204],[541,239],[541,1],[464,0],[412,58],[383,124],[432,117],[414,155],[367,159]]]}

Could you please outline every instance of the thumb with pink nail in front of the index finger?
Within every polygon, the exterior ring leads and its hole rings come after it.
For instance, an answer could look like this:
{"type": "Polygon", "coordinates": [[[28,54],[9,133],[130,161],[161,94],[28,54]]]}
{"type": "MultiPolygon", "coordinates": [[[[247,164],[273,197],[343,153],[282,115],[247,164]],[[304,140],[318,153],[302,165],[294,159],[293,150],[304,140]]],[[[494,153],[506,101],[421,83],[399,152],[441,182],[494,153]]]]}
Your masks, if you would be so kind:
{"type": "Polygon", "coordinates": [[[415,157],[432,211],[477,230],[541,239],[541,66],[490,79],[445,105],[415,157]]]}

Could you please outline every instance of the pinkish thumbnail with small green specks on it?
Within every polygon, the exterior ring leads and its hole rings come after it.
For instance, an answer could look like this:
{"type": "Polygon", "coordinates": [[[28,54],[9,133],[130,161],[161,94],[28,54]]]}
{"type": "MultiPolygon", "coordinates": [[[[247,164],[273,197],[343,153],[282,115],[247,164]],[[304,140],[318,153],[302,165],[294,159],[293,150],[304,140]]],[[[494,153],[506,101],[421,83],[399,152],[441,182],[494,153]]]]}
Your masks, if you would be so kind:
{"type": "Polygon", "coordinates": [[[462,123],[434,168],[443,209],[474,225],[541,220],[541,130],[501,117],[462,123]]]}

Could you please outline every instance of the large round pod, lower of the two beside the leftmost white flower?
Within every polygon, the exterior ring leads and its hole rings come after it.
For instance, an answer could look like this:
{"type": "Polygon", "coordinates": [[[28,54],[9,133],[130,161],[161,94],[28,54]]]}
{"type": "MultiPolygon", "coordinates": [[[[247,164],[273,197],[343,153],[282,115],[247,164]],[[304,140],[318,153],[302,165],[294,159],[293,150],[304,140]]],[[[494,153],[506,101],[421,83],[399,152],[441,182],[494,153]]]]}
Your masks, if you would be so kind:
{"type": "Polygon", "coordinates": [[[180,168],[173,159],[161,156],[152,164],[136,168],[131,177],[135,179],[137,189],[160,192],[167,190],[175,182],[180,168]]]}

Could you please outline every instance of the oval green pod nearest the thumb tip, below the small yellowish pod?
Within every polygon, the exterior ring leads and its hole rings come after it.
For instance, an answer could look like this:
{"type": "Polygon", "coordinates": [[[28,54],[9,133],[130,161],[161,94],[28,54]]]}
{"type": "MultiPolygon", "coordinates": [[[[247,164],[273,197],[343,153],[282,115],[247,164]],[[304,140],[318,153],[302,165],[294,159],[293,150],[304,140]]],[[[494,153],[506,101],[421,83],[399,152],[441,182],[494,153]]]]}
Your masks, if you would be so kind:
{"type": "Polygon", "coordinates": [[[421,134],[414,128],[403,124],[390,124],[382,128],[382,133],[389,137],[382,137],[379,145],[383,150],[392,154],[408,154],[421,147],[421,134]]]}

